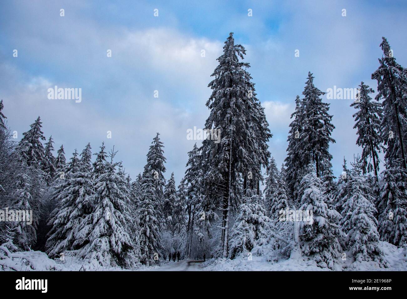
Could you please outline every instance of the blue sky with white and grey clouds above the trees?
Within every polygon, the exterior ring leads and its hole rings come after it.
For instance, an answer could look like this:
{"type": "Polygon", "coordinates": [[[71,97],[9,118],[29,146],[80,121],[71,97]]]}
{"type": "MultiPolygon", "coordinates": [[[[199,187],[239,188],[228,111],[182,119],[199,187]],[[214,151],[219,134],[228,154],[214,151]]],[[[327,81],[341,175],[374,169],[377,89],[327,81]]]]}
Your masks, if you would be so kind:
{"type": "MultiPolygon", "coordinates": [[[[195,143],[186,130],[204,126],[210,74],[234,32],[247,50],[245,61],[274,134],[269,150],[281,165],[295,96],[309,71],[322,91],[356,88],[361,81],[376,89],[370,75],[382,55],[382,36],[407,66],[406,2],[355,2],[0,1],[3,111],[18,138],[41,116],[44,134],[53,136],[56,148],[64,145],[67,159],[88,142],[93,152],[103,141],[115,146],[133,178],[160,132],[165,176],[175,172],[178,183],[195,143]],[[55,85],[81,88],[81,103],[48,99],[55,85]]],[[[360,152],[354,109],[352,100],[326,101],[336,127],[330,151],[339,175],[343,157],[360,152]]]]}

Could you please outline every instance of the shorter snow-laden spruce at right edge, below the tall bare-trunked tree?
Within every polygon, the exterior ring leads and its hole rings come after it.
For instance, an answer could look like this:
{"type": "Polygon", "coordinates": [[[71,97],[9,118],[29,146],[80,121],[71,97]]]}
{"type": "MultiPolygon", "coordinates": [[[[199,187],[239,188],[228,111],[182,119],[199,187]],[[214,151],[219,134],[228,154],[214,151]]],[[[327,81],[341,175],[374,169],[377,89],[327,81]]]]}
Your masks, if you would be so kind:
{"type": "Polygon", "coordinates": [[[401,165],[383,171],[380,188],[379,234],[382,241],[397,246],[407,243],[407,172],[401,165]]]}

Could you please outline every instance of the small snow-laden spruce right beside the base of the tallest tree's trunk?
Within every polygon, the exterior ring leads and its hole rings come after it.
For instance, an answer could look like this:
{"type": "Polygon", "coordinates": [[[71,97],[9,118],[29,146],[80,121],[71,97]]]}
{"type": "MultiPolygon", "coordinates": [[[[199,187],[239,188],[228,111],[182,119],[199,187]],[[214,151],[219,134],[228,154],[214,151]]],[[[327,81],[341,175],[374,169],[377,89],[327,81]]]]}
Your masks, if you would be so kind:
{"type": "Polygon", "coordinates": [[[240,205],[239,216],[232,228],[230,239],[230,258],[242,252],[250,252],[260,238],[266,238],[271,220],[267,217],[267,211],[255,199],[251,197],[249,202],[240,205]]]}

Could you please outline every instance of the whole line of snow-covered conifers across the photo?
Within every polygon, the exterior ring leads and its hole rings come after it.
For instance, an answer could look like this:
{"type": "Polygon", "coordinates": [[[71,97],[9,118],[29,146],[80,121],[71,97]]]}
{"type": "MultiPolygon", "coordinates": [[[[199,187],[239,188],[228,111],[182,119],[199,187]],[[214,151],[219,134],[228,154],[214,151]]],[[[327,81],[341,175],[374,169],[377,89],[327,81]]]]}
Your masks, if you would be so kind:
{"type": "Polygon", "coordinates": [[[243,62],[245,48],[234,44],[233,33],[217,59],[206,103],[205,127],[220,130],[221,140],[193,146],[177,187],[173,174],[164,179],[158,133],[143,172],[132,180],[104,144],[93,162],[90,144],[68,162],[63,146],[54,157],[40,118],[13,142],[1,102],[0,206],[33,210],[34,219],[33,225],[0,222],[0,249],[39,249],[50,258],[63,253],[126,268],[177,251],[186,258],[306,255],[328,268],[345,255],[386,267],[379,240],[403,246],[407,238],[407,71],[385,38],[381,47],[372,74],[375,100],[362,82],[351,104],[362,153],[350,168],[344,159],[338,179],[329,153],[335,127],[311,72],[303,97],[295,99],[285,164],[277,167],[264,108],[243,62]],[[386,168],[380,173],[381,151],[386,168]],[[304,211],[312,212],[312,223],[296,221],[304,211]],[[289,221],[281,221],[283,214],[289,221]]]}

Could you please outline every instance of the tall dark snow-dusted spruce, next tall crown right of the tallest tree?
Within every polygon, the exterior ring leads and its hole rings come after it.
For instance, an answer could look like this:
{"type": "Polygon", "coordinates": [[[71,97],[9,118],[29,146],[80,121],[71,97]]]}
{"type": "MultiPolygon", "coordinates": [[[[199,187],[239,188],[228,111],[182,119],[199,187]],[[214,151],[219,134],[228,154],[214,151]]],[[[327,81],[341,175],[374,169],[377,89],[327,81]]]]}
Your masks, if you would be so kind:
{"type": "Polygon", "coordinates": [[[315,87],[313,80],[311,72],[308,72],[308,80],[302,92],[304,95],[302,100],[304,123],[296,154],[303,160],[302,166],[315,162],[316,175],[321,177],[321,162],[332,159],[332,155],[329,153],[329,143],[335,142],[330,137],[335,127],[331,123],[332,116],[328,114],[329,104],[323,103],[320,98],[325,93],[315,87]]]}

